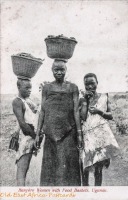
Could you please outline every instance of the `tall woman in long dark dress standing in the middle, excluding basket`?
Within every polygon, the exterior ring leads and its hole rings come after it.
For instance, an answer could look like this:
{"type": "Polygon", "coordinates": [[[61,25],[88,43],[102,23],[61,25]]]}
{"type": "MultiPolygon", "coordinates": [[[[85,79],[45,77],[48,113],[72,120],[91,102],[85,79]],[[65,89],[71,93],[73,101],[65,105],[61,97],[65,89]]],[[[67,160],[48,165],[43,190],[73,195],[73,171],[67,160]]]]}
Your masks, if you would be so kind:
{"type": "Polygon", "coordinates": [[[64,80],[65,62],[55,60],[52,72],[55,81],[42,90],[41,112],[35,145],[40,130],[45,133],[41,186],[80,186],[79,155],[81,127],[79,119],[78,87],[64,80]]]}

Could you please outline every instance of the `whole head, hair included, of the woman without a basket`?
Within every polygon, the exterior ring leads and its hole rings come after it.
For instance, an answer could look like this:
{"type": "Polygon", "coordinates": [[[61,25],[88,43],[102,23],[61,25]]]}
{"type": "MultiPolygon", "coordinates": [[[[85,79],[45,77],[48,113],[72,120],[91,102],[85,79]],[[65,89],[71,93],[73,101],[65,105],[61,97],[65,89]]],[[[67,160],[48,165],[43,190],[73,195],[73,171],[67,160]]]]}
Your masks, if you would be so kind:
{"type": "Polygon", "coordinates": [[[87,91],[95,93],[98,85],[97,76],[93,73],[88,73],[84,76],[84,85],[87,91]]]}

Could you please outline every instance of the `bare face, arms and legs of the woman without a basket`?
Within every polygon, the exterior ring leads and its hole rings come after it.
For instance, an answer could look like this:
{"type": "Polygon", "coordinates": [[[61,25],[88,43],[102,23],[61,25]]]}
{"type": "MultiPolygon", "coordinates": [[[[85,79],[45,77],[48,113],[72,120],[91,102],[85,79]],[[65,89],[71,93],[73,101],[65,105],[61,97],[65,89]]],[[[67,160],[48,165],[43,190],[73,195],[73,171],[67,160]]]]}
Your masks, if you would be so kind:
{"type": "MultiPolygon", "coordinates": [[[[100,98],[101,94],[98,94],[96,92],[98,82],[95,79],[95,77],[87,77],[84,80],[84,85],[86,92],[84,94],[84,99],[82,99],[81,103],[81,119],[86,121],[87,119],[87,113],[90,112],[91,114],[95,115],[98,114],[102,116],[104,119],[111,120],[112,114],[111,114],[111,108],[110,108],[110,102],[107,100],[107,110],[106,112],[103,112],[102,110],[95,107],[95,104],[97,100],[100,98]]],[[[101,186],[102,184],[102,163],[99,162],[97,166],[95,167],[95,186],[101,186]]],[[[83,185],[88,186],[88,180],[89,180],[89,171],[88,169],[84,170],[83,173],[83,185]]]]}

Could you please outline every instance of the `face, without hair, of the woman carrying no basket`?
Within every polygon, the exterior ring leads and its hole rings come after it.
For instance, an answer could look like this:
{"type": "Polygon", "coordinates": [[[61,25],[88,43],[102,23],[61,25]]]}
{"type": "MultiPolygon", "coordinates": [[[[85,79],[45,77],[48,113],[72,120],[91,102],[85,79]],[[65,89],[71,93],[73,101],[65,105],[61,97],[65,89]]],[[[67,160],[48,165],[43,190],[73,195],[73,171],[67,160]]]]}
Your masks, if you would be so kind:
{"type": "Polygon", "coordinates": [[[87,77],[84,79],[84,85],[85,85],[86,91],[95,93],[95,91],[97,89],[97,84],[98,83],[97,83],[95,77],[87,77]]]}

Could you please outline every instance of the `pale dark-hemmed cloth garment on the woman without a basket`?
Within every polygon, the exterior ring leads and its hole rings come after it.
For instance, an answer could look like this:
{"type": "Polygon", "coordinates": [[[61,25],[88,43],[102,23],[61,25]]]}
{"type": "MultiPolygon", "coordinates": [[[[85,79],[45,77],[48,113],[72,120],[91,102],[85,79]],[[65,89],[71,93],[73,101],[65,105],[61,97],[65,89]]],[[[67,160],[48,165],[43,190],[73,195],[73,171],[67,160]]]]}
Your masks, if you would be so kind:
{"type": "MultiPolygon", "coordinates": [[[[95,107],[103,112],[107,111],[107,94],[101,94],[95,107]]],[[[84,150],[81,152],[83,168],[115,157],[119,153],[119,146],[106,119],[98,114],[88,112],[87,120],[82,125],[84,150]]]]}

